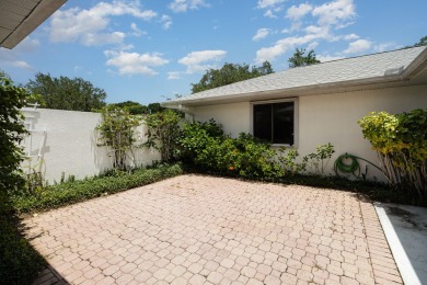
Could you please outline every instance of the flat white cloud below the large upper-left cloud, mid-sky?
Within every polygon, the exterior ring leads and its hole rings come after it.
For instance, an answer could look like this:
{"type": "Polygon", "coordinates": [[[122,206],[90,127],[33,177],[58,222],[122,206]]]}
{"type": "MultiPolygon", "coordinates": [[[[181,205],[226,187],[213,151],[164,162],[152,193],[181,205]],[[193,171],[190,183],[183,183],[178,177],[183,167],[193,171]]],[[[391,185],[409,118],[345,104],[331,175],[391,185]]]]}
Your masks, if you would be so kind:
{"type": "Polygon", "coordinates": [[[163,66],[169,62],[169,60],[162,58],[162,54],[159,53],[138,54],[105,50],[104,54],[108,58],[106,65],[116,67],[118,69],[118,73],[122,76],[154,76],[158,72],[155,72],[152,67],[163,66]]]}

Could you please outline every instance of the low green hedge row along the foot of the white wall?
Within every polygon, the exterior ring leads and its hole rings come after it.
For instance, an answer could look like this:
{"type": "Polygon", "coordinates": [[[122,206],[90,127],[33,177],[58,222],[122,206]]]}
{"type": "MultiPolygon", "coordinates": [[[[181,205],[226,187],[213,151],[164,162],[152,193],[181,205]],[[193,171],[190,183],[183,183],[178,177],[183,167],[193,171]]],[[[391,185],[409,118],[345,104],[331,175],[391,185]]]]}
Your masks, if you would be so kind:
{"type": "Polygon", "coordinates": [[[111,176],[97,176],[50,185],[37,193],[37,195],[16,195],[11,197],[11,201],[19,213],[50,209],[147,185],[182,173],[183,170],[178,164],[160,166],[155,169],[136,170],[130,174],[122,173],[111,176]]]}

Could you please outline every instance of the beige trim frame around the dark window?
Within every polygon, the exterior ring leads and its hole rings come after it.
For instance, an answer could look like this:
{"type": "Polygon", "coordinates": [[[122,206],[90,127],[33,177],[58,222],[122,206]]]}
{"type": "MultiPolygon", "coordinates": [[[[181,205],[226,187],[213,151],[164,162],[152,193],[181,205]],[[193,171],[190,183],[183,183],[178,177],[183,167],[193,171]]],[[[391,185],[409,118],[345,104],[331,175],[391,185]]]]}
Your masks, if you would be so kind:
{"type": "Polygon", "coordinates": [[[252,101],[251,103],[251,134],[254,135],[254,105],[264,105],[264,104],[275,104],[284,102],[293,102],[293,145],[289,144],[272,144],[273,147],[291,147],[298,148],[299,142],[299,102],[298,98],[287,98],[287,99],[275,99],[275,100],[263,100],[263,101],[252,101]]]}

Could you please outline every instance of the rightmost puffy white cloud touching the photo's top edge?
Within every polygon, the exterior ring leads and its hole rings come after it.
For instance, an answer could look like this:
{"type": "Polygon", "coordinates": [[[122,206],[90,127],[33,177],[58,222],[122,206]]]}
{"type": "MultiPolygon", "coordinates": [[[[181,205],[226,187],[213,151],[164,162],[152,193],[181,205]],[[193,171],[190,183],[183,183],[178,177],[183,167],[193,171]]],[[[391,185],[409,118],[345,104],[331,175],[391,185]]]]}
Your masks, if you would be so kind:
{"type": "Polygon", "coordinates": [[[344,27],[351,23],[356,18],[356,8],[353,0],[334,0],[322,5],[315,7],[312,11],[313,16],[319,16],[320,25],[335,25],[344,27]]]}

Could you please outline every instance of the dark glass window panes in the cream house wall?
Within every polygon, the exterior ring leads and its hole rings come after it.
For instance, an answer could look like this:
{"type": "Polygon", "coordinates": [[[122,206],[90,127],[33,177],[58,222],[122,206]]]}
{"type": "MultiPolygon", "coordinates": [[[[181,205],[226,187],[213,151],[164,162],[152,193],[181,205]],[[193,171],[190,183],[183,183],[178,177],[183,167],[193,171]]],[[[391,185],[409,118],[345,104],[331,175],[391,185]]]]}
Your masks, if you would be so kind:
{"type": "Polygon", "coordinates": [[[293,145],[293,102],[254,105],[254,136],[273,144],[293,145]]]}

